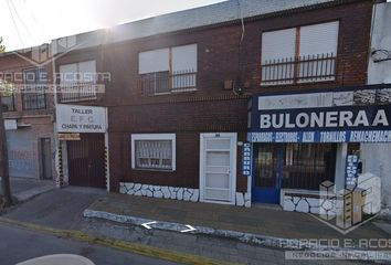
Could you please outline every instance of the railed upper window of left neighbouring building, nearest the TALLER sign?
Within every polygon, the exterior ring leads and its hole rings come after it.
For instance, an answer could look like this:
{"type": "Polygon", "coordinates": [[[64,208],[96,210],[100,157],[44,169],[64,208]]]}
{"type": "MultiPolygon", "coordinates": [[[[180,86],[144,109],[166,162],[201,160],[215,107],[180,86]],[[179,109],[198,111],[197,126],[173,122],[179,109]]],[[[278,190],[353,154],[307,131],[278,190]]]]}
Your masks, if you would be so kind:
{"type": "Polygon", "coordinates": [[[30,68],[23,71],[24,87],[22,92],[23,110],[44,109],[46,98],[46,71],[44,68],[30,68]]]}

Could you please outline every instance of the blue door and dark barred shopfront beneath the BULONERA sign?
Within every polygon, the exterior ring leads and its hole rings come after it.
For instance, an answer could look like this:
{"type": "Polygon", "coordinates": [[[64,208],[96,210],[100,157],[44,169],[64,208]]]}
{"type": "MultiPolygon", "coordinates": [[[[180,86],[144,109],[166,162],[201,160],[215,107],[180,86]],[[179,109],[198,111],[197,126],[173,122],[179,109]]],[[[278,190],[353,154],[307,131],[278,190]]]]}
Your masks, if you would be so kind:
{"type": "Polygon", "coordinates": [[[254,144],[253,201],[279,203],[281,189],[318,190],[334,181],[335,144],[254,144]]]}

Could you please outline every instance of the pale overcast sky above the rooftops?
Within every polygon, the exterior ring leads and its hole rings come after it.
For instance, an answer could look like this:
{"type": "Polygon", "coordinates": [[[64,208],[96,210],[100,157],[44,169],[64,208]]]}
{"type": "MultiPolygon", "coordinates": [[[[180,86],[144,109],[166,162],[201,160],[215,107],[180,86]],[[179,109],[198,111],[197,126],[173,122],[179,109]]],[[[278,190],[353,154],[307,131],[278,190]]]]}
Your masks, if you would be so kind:
{"type": "Polygon", "coordinates": [[[223,0],[0,0],[7,51],[223,0]]]}

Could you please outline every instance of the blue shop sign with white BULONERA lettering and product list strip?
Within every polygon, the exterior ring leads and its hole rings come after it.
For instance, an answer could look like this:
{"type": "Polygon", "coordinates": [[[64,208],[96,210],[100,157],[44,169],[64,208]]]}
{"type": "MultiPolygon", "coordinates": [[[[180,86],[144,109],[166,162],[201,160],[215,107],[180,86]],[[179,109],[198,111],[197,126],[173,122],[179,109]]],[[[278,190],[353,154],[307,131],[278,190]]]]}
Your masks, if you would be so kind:
{"type": "Polygon", "coordinates": [[[391,84],[253,96],[252,142],[391,142],[391,84]]]}

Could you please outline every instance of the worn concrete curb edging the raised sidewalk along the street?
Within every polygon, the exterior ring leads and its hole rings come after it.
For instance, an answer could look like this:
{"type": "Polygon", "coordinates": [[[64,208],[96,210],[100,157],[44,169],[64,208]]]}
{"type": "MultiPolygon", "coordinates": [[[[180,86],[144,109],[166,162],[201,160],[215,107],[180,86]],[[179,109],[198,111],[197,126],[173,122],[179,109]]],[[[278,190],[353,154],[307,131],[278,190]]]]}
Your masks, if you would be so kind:
{"type": "MultiPolygon", "coordinates": [[[[104,211],[95,211],[91,209],[84,210],[83,216],[91,218],[91,219],[103,219],[116,223],[130,224],[130,225],[141,225],[144,223],[156,221],[156,220],[142,219],[142,218],[130,216],[130,215],[120,215],[120,214],[115,214],[115,213],[109,213],[104,211]]],[[[151,226],[157,230],[172,231],[179,233],[182,230],[187,229],[186,224],[163,222],[163,221],[159,221],[158,223],[152,224],[151,226]]],[[[240,241],[246,244],[254,244],[257,246],[281,248],[282,251],[310,251],[311,253],[320,253],[326,251],[328,252],[346,251],[346,252],[350,252],[350,254],[347,254],[347,256],[350,255],[352,258],[356,255],[359,255],[360,261],[371,261],[374,263],[384,264],[384,261],[372,261],[373,258],[372,254],[368,253],[368,251],[363,248],[321,247],[321,246],[319,247],[319,245],[317,244],[309,243],[309,242],[305,243],[297,239],[292,240],[292,239],[284,239],[284,237],[273,237],[267,235],[242,233],[242,232],[230,231],[230,230],[218,230],[218,229],[211,229],[205,226],[193,225],[193,227],[197,230],[189,232],[188,234],[224,237],[229,240],[240,241]]],[[[389,254],[385,252],[384,255],[389,256],[389,254]]],[[[391,264],[391,259],[390,259],[390,264],[391,264]]]]}

